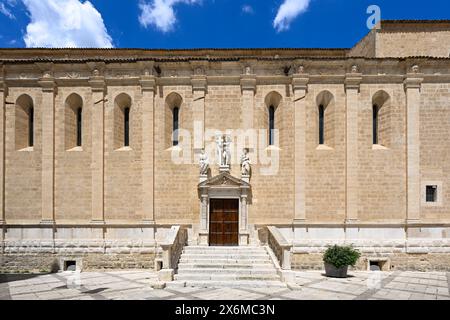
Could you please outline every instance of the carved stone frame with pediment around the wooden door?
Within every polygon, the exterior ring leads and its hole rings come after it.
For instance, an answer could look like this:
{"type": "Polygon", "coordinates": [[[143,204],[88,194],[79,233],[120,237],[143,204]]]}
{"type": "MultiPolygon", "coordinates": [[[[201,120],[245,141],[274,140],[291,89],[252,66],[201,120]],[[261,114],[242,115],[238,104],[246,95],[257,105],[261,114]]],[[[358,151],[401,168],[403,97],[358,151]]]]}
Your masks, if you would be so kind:
{"type": "Polygon", "coordinates": [[[239,245],[249,244],[248,204],[251,201],[250,184],[223,172],[198,185],[200,199],[199,245],[209,245],[210,199],[239,199],[239,245]]]}

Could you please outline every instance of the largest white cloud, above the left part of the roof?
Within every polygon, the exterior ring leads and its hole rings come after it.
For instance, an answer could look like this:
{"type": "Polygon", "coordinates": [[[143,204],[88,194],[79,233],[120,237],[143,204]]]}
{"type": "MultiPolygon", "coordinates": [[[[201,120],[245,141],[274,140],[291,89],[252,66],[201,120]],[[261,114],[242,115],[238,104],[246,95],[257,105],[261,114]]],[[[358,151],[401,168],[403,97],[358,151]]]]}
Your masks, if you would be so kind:
{"type": "Polygon", "coordinates": [[[31,22],[27,47],[113,47],[101,14],[78,0],[22,0],[31,22]]]}

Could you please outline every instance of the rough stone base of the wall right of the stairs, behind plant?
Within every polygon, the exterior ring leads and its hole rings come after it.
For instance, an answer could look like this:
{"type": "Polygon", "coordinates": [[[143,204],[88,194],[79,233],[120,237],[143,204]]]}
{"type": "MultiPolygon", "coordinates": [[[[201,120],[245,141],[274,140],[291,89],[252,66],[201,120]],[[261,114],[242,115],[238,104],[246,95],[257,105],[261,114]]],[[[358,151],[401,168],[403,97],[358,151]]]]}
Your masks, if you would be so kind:
{"type": "MultiPolygon", "coordinates": [[[[323,270],[321,253],[293,253],[293,270],[323,270]]],[[[367,270],[368,259],[388,259],[386,269],[402,271],[447,271],[450,272],[450,253],[395,253],[386,255],[363,254],[355,265],[356,270],[367,270]]]]}

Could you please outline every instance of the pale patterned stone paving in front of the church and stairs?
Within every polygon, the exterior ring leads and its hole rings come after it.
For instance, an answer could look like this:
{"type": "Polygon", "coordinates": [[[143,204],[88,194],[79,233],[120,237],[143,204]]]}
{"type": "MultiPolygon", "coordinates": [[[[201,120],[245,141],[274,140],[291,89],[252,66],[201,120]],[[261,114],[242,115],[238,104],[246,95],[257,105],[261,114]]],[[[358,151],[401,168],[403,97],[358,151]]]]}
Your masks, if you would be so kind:
{"type": "Polygon", "coordinates": [[[450,300],[449,272],[351,272],[346,279],[296,272],[296,284],[286,288],[153,289],[155,282],[156,273],[133,270],[0,275],[0,300],[450,300]]]}

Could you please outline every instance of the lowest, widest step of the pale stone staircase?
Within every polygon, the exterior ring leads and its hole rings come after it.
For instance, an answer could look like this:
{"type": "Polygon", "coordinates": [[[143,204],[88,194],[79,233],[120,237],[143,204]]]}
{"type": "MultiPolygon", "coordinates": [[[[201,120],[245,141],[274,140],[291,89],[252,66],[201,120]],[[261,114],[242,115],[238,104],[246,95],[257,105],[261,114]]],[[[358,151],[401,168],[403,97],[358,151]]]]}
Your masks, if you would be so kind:
{"type": "Polygon", "coordinates": [[[287,288],[281,281],[202,281],[202,280],[175,280],[166,283],[166,288],[196,287],[196,288],[287,288]]]}

